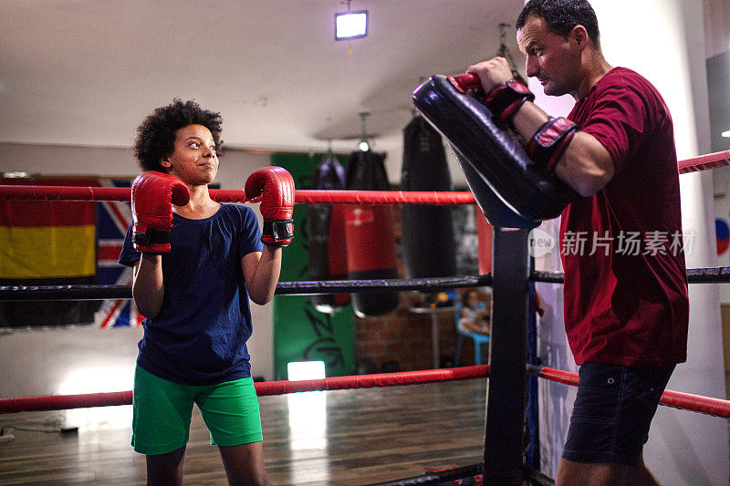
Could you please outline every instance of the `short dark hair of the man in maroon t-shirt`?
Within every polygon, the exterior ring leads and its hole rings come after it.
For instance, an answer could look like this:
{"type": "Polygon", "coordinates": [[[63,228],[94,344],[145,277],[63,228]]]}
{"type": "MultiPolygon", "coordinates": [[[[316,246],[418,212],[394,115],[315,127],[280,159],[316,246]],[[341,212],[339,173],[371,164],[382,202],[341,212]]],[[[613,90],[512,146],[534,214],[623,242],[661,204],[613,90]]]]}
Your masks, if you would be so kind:
{"type": "Polygon", "coordinates": [[[584,26],[593,47],[600,50],[599,21],[588,0],[529,0],[517,16],[517,30],[525,26],[529,16],[544,19],[550,32],[565,38],[573,27],[584,26]]]}

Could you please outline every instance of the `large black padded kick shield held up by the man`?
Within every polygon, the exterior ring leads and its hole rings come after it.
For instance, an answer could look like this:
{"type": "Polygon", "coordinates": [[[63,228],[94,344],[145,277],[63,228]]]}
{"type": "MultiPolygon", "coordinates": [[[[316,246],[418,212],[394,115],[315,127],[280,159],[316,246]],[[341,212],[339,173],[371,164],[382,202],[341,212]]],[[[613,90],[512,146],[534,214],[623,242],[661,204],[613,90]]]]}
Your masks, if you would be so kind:
{"type": "Polygon", "coordinates": [[[538,167],[504,122],[445,76],[413,91],[413,104],[448,140],[485,218],[501,228],[535,228],[579,197],[538,167]]]}

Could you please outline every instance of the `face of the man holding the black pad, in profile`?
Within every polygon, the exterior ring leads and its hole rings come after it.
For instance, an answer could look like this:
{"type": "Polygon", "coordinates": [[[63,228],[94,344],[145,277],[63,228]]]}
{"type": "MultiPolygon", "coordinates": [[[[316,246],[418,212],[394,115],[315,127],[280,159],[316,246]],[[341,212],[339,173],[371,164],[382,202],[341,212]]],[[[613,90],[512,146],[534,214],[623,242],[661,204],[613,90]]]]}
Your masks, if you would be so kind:
{"type": "Polygon", "coordinates": [[[550,32],[544,19],[529,16],[517,32],[517,44],[527,57],[527,76],[537,78],[547,95],[561,96],[578,90],[580,52],[570,36],[550,32]]]}

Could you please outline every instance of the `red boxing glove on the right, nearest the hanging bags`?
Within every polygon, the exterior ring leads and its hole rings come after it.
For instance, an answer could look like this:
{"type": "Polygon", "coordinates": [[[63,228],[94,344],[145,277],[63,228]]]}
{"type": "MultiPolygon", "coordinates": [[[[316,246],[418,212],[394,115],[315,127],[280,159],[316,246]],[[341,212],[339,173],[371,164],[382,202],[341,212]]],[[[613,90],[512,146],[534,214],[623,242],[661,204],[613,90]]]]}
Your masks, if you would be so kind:
{"type": "Polygon", "coordinates": [[[264,228],[261,241],[271,246],[287,246],[294,237],[294,179],[281,167],[265,167],[245,181],[245,197],[261,202],[264,228]]]}

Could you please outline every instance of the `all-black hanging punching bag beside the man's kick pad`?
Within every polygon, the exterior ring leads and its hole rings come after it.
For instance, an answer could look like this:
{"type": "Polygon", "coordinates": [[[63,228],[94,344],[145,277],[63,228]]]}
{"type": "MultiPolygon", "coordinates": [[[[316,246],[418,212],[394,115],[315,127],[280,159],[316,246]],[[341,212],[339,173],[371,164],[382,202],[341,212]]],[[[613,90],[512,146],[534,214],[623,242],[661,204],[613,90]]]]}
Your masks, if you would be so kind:
{"type": "MultiPolygon", "coordinates": [[[[452,190],[441,135],[420,116],[403,129],[401,190],[452,190]]],[[[456,274],[451,206],[403,204],[401,228],[406,278],[456,274]]]]}

